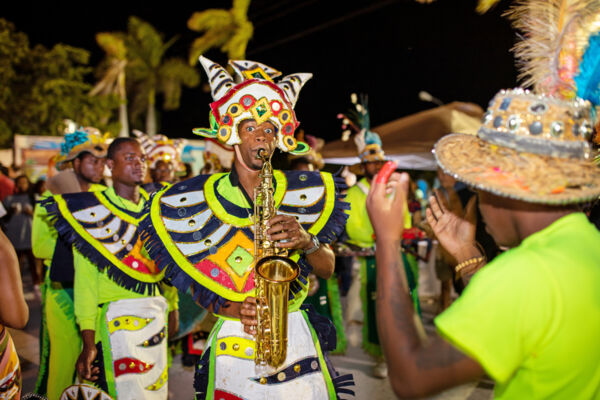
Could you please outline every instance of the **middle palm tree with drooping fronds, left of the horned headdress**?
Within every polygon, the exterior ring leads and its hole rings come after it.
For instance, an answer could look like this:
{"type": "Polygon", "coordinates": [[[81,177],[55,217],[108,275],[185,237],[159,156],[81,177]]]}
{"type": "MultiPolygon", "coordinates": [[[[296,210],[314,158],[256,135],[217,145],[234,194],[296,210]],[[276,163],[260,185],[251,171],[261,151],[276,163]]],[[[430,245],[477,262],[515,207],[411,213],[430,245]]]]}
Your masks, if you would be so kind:
{"type": "Polygon", "coordinates": [[[146,133],[152,136],[157,126],[156,95],[163,95],[163,109],[177,109],[181,86],[197,86],[200,75],[181,58],[164,59],[177,37],[165,43],[152,25],[137,17],[129,18],[127,31],[127,77],[129,92],[133,93],[131,118],[135,120],[145,112],[146,133]]]}

